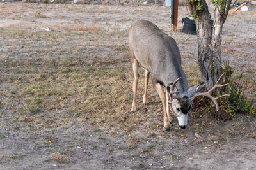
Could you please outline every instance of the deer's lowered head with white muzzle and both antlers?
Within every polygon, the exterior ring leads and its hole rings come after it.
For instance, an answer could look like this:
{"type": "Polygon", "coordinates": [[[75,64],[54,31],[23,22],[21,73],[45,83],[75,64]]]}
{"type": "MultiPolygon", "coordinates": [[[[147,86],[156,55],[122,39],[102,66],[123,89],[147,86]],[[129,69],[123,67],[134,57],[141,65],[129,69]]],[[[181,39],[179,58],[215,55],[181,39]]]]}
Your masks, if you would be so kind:
{"type": "Polygon", "coordinates": [[[192,107],[192,101],[195,99],[197,96],[206,96],[212,99],[214,101],[214,104],[216,106],[216,110],[219,110],[218,102],[217,99],[223,96],[229,96],[228,94],[224,94],[219,97],[213,97],[211,96],[211,92],[216,89],[217,87],[223,87],[225,85],[220,85],[218,84],[221,77],[223,74],[220,76],[214,87],[212,87],[211,90],[208,92],[201,92],[201,90],[205,86],[205,82],[200,83],[199,85],[195,85],[193,87],[189,87],[188,89],[182,91],[180,89],[177,89],[175,87],[175,84],[180,80],[180,78],[177,78],[173,83],[169,83],[168,86],[166,87],[166,90],[169,94],[169,107],[172,113],[177,117],[179,126],[182,129],[186,128],[186,125],[188,123],[188,112],[192,107]]]}

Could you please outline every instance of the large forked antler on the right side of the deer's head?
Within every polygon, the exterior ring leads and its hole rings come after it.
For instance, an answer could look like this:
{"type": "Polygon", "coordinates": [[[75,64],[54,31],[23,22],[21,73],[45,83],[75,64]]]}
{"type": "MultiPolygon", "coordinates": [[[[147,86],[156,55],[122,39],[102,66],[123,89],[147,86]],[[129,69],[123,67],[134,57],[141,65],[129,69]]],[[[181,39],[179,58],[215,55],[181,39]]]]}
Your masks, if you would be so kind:
{"type": "Polygon", "coordinates": [[[214,89],[216,89],[217,87],[223,87],[223,86],[228,85],[228,83],[227,83],[227,84],[224,84],[224,85],[218,84],[219,81],[220,81],[220,79],[221,79],[221,77],[222,77],[223,75],[224,75],[224,73],[221,74],[220,78],[217,80],[216,84],[214,85],[214,87],[212,87],[212,89],[210,89],[208,92],[196,93],[193,97],[191,97],[191,101],[193,101],[193,99],[195,99],[195,97],[197,97],[197,96],[206,96],[206,97],[209,97],[209,99],[212,99],[212,101],[214,102],[214,104],[215,104],[215,106],[216,106],[216,111],[218,111],[218,110],[219,110],[219,105],[218,105],[217,99],[220,99],[221,97],[224,97],[224,96],[230,96],[229,94],[223,94],[223,95],[221,95],[221,96],[219,96],[219,97],[213,97],[213,96],[211,95],[211,92],[212,92],[214,89]]]}

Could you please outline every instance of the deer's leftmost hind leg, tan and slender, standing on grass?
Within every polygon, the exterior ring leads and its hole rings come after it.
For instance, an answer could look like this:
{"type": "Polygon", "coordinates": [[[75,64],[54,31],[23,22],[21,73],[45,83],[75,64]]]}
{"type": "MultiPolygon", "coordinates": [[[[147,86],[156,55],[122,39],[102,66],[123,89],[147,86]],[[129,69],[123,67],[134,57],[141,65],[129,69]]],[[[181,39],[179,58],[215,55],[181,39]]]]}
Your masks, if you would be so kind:
{"type": "Polygon", "coordinates": [[[139,62],[138,60],[136,60],[135,58],[132,60],[132,69],[133,69],[133,73],[134,73],[134,80],[133,80],[133,101],[132,101],[132,108],[131,108],[131,112],[135,113],[135,111],[137,110],[137,106],[136,106],[136,96],[137,96],[137,86],[138,86],[138,78],[139,78],[139,74],[138,74],[138,67],[139,67],[139,62]]]}

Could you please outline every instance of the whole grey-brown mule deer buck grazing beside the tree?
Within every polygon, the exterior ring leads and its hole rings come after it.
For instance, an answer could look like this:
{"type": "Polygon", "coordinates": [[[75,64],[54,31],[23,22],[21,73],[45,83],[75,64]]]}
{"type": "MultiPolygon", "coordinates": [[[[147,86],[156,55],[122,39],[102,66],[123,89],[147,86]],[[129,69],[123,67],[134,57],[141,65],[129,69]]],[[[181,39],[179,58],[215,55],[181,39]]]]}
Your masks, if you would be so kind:
{"type": "Polygon", "coordinates": [[[181,67],[180,52],[175,40],[164,34],[152,22],[139,20],[131,26],[129,30],[129,50],[134,73],[131,111],[134,113],[137,109],[136,95],[140,64],[145,69],[143,104],[148,104],[147,89],[151,73],[154,89],[158,92],[163,104],[166,131],[170,131],[172,122],[170,110],[177,117],[180,128],[184,129],[188,122],[188,111],[191,109],[192,101],[196,96],[207,96],[212,99],[216,105],[216,110],[218,110],[217,99],[228,96],[228,94],[220,97],[211,96],[212,90],[227,85],[218,84],[221,77],[208,92],[200,92],[204,88],[205,82],[189,87],[186,75],[181,67]],[[162,86],[166,88],[165,95],[162,86]]]}

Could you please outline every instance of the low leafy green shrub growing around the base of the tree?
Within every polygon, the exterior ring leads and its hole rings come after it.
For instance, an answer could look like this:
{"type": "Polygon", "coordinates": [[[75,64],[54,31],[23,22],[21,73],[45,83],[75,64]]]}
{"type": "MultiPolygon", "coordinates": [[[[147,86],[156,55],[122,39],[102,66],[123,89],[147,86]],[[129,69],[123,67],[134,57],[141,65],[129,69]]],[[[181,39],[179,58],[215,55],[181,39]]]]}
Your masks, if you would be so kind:
{"type": "Polygon", "coordinates": [[[256,106],[244,94],[248,87],[248,80],[244,80],[241,74],[234,76],[234,69],[230,67],[228,62],[225,63],[223,70],[225,72],[223,84],[228,83],[228,85],[218,91],[216,90],[215,95],[230,94],[230,96],[218,99],[219,111],[216,111],[215,104],[207,97],[197,97],[193,101],[196,111],[198,109],[204,110],[211,117],[221,120],[234,120],[237,117],[237,113],[256,116],[256,106]]]}

